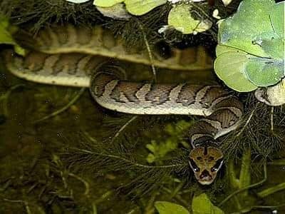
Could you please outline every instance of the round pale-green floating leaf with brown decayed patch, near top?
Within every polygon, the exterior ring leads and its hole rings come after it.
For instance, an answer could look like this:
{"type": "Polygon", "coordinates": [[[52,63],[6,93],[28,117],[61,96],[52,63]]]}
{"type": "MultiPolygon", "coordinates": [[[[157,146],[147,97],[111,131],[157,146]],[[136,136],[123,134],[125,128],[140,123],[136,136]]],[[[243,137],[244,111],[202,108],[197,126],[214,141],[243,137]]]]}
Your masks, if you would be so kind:
{"type": "Polygon", "coordinates": [[[174,6],[168,14],[168,24],[182,34],[197,34],[197,32],[207,31],[212,26],[212,22],[193,19],[190,9],[190,4],[174,6]]]}

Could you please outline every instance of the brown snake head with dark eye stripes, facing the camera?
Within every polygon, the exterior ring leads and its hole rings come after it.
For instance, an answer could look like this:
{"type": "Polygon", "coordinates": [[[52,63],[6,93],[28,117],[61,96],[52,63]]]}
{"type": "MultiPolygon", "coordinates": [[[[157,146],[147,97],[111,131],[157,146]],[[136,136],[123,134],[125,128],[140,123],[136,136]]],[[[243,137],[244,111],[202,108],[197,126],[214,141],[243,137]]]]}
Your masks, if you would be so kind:
{"type": "Polygon", "coordinates": [[[214,181],[224,161],[222,151],[214,146],[197,146],[192,149],[189,158],[195,178],[202,185],[214,181]]]}

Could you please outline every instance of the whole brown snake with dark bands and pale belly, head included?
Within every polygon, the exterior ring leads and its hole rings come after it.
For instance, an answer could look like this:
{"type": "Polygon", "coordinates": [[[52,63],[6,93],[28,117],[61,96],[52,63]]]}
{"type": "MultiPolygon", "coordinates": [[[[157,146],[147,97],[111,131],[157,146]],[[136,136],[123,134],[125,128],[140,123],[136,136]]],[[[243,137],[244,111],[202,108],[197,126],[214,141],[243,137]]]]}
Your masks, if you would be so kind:
{"type": "MultiPolygon", "coordinates": [[[[22,41],[24,46],[36,51],[30,51],[25,57],[8,51],[6,66],[11,73],[28,81],[88,87],[100,106],[113,111],[203,116],[185,135],[192,145],[189,163],[195,178],[203,185],[212,183],[223,163],[223,153],[215,139],[239,126],[242,103],[217,85],[138,83],[118,78],[120,68],[102,63],[96,56],[144,64],[150,64],[150,60],[147,54],[129,54],[118,39],[110,34],[104,36],[102,32],[73,26],[41,31],[35,40],[22,41]]],[[[200,58],[181,64],[177,57],[180,52],[172,52],[166,59],[155,57],[152,63],[157,67],[185,70],[212,66],[200,64],[200,58]]],[[[198,52],[199,49],[192,54],[199,56],[198,52]]]]}

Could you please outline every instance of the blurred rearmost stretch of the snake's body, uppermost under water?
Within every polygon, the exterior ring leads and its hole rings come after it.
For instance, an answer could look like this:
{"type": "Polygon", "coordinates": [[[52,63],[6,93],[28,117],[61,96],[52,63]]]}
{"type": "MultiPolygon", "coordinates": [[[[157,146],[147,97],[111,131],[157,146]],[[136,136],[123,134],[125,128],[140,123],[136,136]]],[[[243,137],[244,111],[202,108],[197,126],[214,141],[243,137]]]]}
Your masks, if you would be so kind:
{"type": "MultiPolygon", "coordinates": [[[[38,32],[38,36],[19,31],[16,40],[24,48],[41,51],[46,54],[85,53],[117,58],[133,63],[150,65],[150,56],[146,49],[125,49],[120,35],[114,36],[108,29],[100,26],[94,28],[75,27],[72,25],[52,26],[38,32]]],[[[165,44],[165,46],[168,46],[165,44]]],[[[185,50],[168,46],[170,54],[165,55],[162,49],[152,49],[153,63],[160,68],[197,71],[212,68],[212,59],[202,46],[185,50]],[[191,57],[185,57],[189,56],[191,57]],[[167,58],[165,58],[167,56],[167,58]]]]}

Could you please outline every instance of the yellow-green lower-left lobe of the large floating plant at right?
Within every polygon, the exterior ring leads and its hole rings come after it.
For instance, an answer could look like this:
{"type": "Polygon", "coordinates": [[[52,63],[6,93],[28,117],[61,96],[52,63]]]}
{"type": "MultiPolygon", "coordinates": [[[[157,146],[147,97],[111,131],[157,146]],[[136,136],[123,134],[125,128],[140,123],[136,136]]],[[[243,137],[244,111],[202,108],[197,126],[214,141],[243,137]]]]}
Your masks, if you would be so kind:
{"type": "Polygon", "coordinates": [[[249,60],[246,52],[219,45],[217,50],[219,55],[214,61],[214,71],[229,88],[240,92],[257,89],[257,86],[249,81],[244,73],[249,60]]]}

